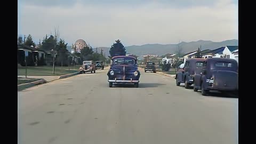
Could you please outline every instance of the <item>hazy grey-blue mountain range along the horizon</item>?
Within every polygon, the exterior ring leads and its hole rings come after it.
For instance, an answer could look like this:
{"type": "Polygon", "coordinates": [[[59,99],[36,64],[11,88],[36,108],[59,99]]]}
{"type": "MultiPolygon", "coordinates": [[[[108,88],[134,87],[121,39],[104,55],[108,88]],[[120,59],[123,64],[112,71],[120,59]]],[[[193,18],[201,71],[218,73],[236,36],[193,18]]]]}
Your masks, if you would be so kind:
{"type": "MultiPolygon", "coordinates": [[[[164,55],[166,53],[175,53],[179,47],[182,47],[182,52],[187,53],[191,51],[198,50],[198,47],[202,47],[202,50],[210,49],[214,50],[222,46],[227,45],[238,45],[237,39],[230,39],[222,42],[212,42],[212,41],[204,41],[199,40],[196,42],[181,42],[178,44],[145,44],[145,45],[132,45],[125,46],[126,53],[135,54],[139,57],[145,54],[158,54],[159,56],[164,55]]],[[[71,52],[71,46],[68,47],[71,52]]],[[[103,53],[106,53],[106,57],[109,55],[110,47],[98,47],[98,52],[103,50],[103,53]]],[[[96,48],[93,48],[93,51],[96,51],[96,48]]]]}

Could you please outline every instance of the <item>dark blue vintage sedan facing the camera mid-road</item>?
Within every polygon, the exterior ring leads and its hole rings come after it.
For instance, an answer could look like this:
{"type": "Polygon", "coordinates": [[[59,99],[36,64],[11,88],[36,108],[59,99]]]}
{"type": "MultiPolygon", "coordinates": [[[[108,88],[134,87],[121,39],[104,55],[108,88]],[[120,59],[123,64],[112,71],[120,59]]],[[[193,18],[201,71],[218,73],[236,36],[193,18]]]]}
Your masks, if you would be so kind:
{"type": "Polygon", "coordinates": [[[140,71],[138,70],[137,59],[134,57],[113,57],[107,75],[109,87],[119,83],[134,84],[134,87],[139,87],[140,71]]]}

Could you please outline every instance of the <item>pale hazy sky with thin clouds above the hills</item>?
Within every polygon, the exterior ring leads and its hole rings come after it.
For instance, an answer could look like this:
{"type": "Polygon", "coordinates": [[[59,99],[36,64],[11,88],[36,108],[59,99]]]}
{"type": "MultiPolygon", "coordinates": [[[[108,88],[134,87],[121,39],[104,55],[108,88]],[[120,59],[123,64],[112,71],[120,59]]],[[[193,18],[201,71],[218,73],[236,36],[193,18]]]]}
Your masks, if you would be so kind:
{"type": "Polygon", "coordinates": [[[238,4],[230,0],[19,0],[18,35],[54,34],[93,47],[238,39],[238,4]]]}

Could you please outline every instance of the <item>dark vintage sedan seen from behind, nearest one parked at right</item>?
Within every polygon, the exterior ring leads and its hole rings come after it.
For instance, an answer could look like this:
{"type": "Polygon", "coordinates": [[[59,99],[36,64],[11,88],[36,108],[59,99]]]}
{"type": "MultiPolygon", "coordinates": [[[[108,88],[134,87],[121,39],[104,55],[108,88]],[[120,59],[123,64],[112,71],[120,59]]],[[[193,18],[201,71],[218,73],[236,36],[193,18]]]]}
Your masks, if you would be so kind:
{"type": "Polygon", "coordinates": [[[208,58],[194,79],[194,91],[201,90],[202,95],[210,90],[237,92],[238,63],[233,59],[208,58]]]}

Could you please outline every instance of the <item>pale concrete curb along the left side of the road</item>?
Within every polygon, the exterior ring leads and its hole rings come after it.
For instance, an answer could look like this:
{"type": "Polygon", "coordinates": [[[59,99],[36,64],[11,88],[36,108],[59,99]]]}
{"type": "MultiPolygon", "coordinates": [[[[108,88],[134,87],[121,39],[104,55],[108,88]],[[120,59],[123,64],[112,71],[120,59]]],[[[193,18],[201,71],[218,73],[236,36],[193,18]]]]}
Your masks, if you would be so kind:
{"type": "MultiPolygon", "coordinates": [[[[71,77],[71,76],[75,76],[75,75],[79,75],[79,72],[72,73],[72,74],[67,74],[67,75],[62,75],[62,76],[59,76],[59,78],[54,79],[54,80],[49,81],[49,82],[53,82],[53,81],[56,81],[58,79],[67,78],[67,77],[71,77]]],[[[39,81],[25,83],[25,84],[20,84],[20,85],[18,85],[18,90],[20,91],[20,90],[23,90],[23,89],[28,89],[29,87],[33,87],[35,85],[49,83],[49,82],[47,82],[45,79],[42,78],[39,81]]]]}

